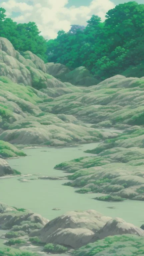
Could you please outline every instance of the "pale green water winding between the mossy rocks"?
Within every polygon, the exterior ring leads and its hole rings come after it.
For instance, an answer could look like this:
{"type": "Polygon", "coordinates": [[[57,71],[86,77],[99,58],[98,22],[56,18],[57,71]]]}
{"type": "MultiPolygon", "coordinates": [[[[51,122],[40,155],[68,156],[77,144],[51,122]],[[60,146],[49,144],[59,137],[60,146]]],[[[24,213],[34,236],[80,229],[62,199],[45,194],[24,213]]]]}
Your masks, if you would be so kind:
{"type": "MultiPolygon", "coordinates": [[[[93,149],[97,145],[98,143],[92,143],[81,147],[27,149],[24,150],[27,157],[10,159],[8,162],[12,168],[19,170],[22,174],[41,173],[47,176],[64,176],[65,173],[62,171],[53,169],[56,164],[81,156],[90,156],[83,151],[93,149]],[[47,152],[42,152],[43,150],[47,152]]],[[[47,219],[53,219],[66,211],[94,209],[105,216],[120,217],[139,227],[144,223],[142,201],[101,202],[92,199],[96,194],[77,194],[74,188],[62,186],[66,182],[63,180],[32,180],[22,183],[18,178],[20,177],[0,180],[1,202],[31,209],[47,219]],[[114,206],[116,209],[109,209],[108,206],[114,206]],[[53,211],[53,208],[61,210],[53,211]]],[[[22,178],[27,179],[27,177],[22,178]]]]}

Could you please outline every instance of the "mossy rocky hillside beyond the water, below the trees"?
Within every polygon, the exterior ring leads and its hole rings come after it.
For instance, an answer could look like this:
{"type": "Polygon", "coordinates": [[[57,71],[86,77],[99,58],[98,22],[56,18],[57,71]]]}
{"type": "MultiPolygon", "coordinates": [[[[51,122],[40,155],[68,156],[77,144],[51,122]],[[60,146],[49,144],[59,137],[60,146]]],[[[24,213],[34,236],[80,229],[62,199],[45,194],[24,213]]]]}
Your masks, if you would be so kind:
{"type": "Polygon", "coordinates": [[[87,81],[84,67],[70,71],[44,64],[31,52],[22,56],[5,38],[0,38],[0,49],[1,157],[24,156],[7,142],[24,148],[100,141],[87,151],[93,157],[56,166],[73,172],[68,185],[79,187],[80,193],[109,194],[101,200],[144,200],[143,77],[117,75],[76,87],[70,81],[87,81]],[[123,134],[107,130],[112,127],[124,129],[123,134]]]}

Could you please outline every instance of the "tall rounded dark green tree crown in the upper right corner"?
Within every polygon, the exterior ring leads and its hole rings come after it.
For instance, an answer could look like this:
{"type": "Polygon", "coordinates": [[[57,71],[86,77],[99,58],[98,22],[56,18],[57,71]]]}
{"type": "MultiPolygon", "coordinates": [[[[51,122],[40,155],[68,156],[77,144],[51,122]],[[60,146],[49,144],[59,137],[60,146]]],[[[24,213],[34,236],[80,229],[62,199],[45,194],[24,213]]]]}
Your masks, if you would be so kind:
{"type": "Polygon", "coordinates": [[[114,48],[144,33],[144,4],[119,4],[107,12],[106,18],[105,26],[114,48]]]}

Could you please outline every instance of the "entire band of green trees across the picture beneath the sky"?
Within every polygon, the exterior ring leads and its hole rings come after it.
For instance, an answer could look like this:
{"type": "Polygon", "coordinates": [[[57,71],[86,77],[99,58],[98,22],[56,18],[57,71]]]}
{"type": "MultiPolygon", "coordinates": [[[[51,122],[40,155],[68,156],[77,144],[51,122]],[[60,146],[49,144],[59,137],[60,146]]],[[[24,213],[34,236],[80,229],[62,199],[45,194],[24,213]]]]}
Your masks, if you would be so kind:
{"type": "Polygon", "coordinates": [[[84,29],[59,31],[49,41],[39,35],[34,22],[17,24],[5,18],[4,11],[0,11],[0,36],[15,49],[30,50],[46,62],[85,66],[100,80],[144,62],[144,4],[119,4],[107,12],[105,22],[93,15],[84,29]]]}

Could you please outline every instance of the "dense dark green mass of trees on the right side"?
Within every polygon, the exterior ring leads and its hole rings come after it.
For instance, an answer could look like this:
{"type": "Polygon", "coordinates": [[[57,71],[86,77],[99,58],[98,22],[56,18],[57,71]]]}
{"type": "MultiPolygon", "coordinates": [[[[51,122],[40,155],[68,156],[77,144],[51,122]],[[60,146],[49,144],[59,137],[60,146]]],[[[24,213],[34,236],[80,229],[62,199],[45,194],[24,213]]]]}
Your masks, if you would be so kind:
{"type": "Polygon", "coordinates": [[[93,15],[75,35],[59,31],[47,42],[50,62],[69,68],[85,66],[98,79],[121,74],[144,59],[144,4],[128,2],[106,14],[104,23],[93,15]]]}

